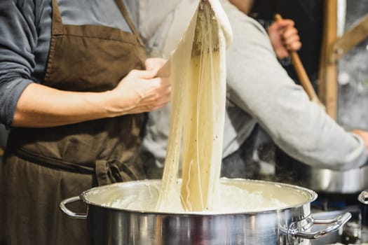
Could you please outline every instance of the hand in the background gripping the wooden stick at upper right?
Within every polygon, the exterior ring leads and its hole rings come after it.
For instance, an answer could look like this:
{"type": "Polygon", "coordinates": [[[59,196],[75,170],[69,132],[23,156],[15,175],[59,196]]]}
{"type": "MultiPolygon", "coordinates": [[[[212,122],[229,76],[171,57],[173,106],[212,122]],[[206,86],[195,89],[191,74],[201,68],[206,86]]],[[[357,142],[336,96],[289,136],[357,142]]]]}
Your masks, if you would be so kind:
{"type": "Polygon", "coordinates": [[[301,48],[298,30],[294,27],[292,20],[282,19],[273,22],[268,27],[268,36],[279,59],[284,59],[289,56],[289,52],[301,48]]]}

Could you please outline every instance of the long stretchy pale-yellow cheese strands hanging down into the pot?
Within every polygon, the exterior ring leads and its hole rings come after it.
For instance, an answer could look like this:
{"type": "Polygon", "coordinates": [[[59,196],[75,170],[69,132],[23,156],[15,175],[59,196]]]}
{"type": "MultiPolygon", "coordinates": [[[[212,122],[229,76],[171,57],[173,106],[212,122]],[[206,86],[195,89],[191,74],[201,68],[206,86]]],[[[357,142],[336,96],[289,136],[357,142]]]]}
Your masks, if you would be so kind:
{"type": "Polygon", "coordinates": [[[224,134],[225,51],[230,42],[229,20],[219,1],[201,1],[170,56],[170,132],[156,211],[177,211],[172,200],[180,200],[185,211],[214,209],[224,134]],[[182,186],[178,191],[180,160],[182,186]]]}

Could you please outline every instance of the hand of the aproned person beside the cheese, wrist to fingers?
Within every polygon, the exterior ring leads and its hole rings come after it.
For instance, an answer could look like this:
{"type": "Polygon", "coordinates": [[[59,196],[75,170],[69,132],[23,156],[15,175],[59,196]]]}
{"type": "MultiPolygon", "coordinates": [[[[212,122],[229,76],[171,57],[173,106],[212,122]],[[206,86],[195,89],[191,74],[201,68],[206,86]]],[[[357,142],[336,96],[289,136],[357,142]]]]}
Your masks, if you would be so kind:
{"type": "Polygon", "coordinates": [[[170,78],[157,77],[165,59],[146,60],[146,70],[132,70],[111,91],[111,110],[123,114],[142,113],[159,109],[170,101],[170,78]]]}

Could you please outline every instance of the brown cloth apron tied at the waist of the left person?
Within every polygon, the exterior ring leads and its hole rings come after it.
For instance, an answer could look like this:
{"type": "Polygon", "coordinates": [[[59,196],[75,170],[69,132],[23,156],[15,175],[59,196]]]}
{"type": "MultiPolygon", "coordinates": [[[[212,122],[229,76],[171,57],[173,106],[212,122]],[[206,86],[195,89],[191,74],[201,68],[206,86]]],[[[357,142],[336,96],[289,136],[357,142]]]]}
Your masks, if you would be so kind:
{"type": "MultiPolygon", "coordinates": [[[[116,0],[116,4],[132,34],[112,27],[63,25],[53,0],[44,85],[101,92],[116,87],[130,70],[144,69],[142,42],[123,1],[116,0]]],[[[93,186],[144,178],[137,157],[142,121],[142,114],[135,114],[13,130],[2,169],[6,212],[1,210],[0,217],[6,220],[7,244],[88,244],[86,221],[62,214],[60,201],[93,186]]],[[[81,202],[70,209],[86,213],[81,202]]]]}

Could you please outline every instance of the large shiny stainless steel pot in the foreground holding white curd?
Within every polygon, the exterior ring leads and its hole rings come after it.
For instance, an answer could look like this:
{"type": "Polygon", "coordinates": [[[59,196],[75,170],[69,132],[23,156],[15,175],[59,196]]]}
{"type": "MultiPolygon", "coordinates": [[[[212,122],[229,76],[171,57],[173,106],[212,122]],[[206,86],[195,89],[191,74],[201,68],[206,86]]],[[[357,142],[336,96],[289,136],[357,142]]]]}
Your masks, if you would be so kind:
{"type": "Polygon", "coordinates": [[[310,203],[317,194],[312,190],[284,183],[243,179],[222,179],[221,183],[249,191],[260,190],[265,202],[280,197],[287,206],[263,211],[230,211],[226,214],[169,214],[104,206],[116,197],[135,193],[141,193],[152,201],[155,188],[151,186],[159,186],[160,183],[158,180],[132,181],[92,188],[79,197],[63,200],[60,208],[71,218],[87,219],[90,244],[98,245],[311,244],[310,239],[338,230],[351,216],[345,213],[332,219],[315,219],[310,203]],[[80,200],[88,204],[86,214],[76,214],[67,209],[67,204],[80,200]]]}

